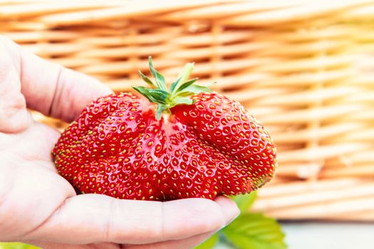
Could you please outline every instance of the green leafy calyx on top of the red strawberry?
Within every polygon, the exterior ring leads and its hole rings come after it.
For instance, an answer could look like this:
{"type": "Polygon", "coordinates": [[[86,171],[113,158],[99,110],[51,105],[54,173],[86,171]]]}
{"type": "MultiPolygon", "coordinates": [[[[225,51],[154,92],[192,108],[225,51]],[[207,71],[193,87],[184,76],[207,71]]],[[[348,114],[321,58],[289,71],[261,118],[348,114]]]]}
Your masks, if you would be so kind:
{"type": "Polygon", "coordinates": [[[142,86],[133,88],[146,97],[147,100],[157,104],[157,120],[161,119],[162,112],[170,113],[170,108],[175,107],[175,105],[192,105],[194,103],[194,99],[191,97],[192,95],[199,92],[212,92],[209,88],[210,85],[195,85],[194,83],[196,83],[197,78],[188,80],[189,75],[194,69],[194,63],[187,63],[180,75],[178,75],[177,80],[167,89],[165,78],[153,67],[151,56],[148,58],[148,61],[150,64],[150,73],[152,73],[155,78],[155,83],[139,70],[140,77],[145,83],[150,85],[150,88],[142,86]]]}

